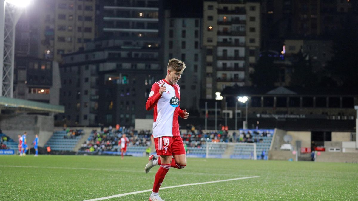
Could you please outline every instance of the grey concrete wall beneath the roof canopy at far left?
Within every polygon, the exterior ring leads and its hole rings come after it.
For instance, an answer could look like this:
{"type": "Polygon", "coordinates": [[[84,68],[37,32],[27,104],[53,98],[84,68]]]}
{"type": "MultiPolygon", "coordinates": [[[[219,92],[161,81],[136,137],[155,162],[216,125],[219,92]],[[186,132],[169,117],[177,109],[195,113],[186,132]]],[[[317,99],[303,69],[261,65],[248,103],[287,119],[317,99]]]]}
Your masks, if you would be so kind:
{"type": "Polygon", "coordinates": [[[44,146],[52,135],[54,119],[52,116],[38,114],[14,114],[1,115],[0,128],[7,136],[14,141],[18,141],[18,135],[27,132],[26,142],[30,144],[35,139],[35,134],[39,134],[39,146],[44,146]]]}

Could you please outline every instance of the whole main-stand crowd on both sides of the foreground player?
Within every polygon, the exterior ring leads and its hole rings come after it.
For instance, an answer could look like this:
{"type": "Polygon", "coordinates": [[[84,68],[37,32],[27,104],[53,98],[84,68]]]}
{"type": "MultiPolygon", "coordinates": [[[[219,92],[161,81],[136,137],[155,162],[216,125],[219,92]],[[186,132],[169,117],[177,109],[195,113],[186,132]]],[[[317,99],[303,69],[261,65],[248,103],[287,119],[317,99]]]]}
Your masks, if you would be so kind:
{"type": "MultiPolygon", "coordinates": [[[[108,129],[101,128],[101,131],[93,130],[91,136],[82,144],[82,147],[79,150],[87,152],[120,151],[118,143],[122,134],[126,134],[126,137],[129,138],[129,147],[149,147],[151,145],[150,130],[135,131],[133,128],[113,128],[110,126],[108,129]]],[[[261,142],[262,137],[271,134],[268,131],[250,130],[228,133],[226,129],[203,132],[201,128],[196,129],[192,124],[188,124],[186,129],[180,130],[180,135],[187,147],[200,148],[207,142],[261,142]]]]}

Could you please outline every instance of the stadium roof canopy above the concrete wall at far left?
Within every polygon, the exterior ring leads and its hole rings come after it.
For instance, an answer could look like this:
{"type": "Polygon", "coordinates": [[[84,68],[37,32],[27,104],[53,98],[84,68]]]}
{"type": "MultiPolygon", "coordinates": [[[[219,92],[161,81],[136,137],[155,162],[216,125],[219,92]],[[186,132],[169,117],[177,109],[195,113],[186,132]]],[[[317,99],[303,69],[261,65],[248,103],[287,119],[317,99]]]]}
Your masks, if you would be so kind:
{"type": "Polygon", "coordinates": [[[64,106],[8,97],[0,97],[0,109],[15,110],[17,112],[64,113],[65,111],[64,106]]]}

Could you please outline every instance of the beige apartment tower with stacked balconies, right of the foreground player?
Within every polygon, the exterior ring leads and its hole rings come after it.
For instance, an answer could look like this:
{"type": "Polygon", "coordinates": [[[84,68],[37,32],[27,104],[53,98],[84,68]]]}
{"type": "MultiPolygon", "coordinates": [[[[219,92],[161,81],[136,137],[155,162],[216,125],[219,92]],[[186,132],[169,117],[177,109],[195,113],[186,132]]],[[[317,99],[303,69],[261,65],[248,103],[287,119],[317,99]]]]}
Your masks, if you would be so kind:
{"type": "Polygon", "coordinates": [[[260,49],[260,3],[204,1],[205,98],[226,86],[249,85],[249,72],[260,49]]]}

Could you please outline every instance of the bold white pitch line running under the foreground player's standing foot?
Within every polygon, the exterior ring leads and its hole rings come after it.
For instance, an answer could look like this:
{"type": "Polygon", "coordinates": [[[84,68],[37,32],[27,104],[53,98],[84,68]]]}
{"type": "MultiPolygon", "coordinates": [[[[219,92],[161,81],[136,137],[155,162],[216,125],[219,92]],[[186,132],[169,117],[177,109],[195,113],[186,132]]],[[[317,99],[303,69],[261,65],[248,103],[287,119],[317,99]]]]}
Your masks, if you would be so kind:
{"type": "MultiPolygon", "coordinates": [[[[162,188],[160,188],[160,190],[164,190],[164,189],[168,189],[168,188],[183,187],[183,186],[194,186],[194,185],[202,185],[202,184],[208,184],[208,183],[217,183],[217,182],[224,182],[224,181],[243,180],[243,179],[258,178],[258,177],[259,176],[240,177],[240,178],[233,178],[233,179],[227,179],[227,180],[207,181],[207,182],[200,182],[200,183],[187,183],[187,184],[182,184],[182,185],[177,185],[177,186],[162,187],[162,188]]],[[[143,191],[135,191],[135,192],[130,192],[130,193],[123,193],[123,194],[112,195],[112,196],[107,196],[107,197],[94,198],[94,199],[91,199],[91,200],[84,200],[84,201],[106,200],[106,199],[111,199],[111,198],[115,198],[115,197],[122,197],[122,196],[126,196],[126,195],[134,195],[134,194],[144,193],[144,192],[152,192],[152,189],[143,190],[143,191]]]]}

